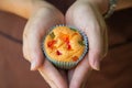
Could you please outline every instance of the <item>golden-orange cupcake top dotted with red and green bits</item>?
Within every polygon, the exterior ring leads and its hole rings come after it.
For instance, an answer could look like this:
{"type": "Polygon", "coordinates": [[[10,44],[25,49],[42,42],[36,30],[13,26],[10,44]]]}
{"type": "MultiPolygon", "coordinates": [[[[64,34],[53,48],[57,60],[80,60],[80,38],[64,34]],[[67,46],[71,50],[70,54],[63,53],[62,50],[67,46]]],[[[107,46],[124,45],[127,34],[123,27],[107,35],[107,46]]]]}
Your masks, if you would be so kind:
{"type": "Polygon", "coordinates": [[[77,62],[85,51],[85,44],[76,29],[55,26],[45,36],[43,50],[47,58],[58,62],[77,62]]]}

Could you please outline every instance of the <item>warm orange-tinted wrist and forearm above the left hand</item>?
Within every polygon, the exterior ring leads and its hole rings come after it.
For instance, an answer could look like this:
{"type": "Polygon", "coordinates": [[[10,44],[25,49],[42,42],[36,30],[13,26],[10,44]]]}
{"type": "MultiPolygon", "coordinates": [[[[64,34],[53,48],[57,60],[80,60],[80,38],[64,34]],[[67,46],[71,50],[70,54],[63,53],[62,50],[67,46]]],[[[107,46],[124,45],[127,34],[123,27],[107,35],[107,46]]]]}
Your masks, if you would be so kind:
{"type": "Polygon", "coordinates": [[[0,10],[18,14],[29,19],[41,8],[53,9],[54,7],[45,0],[1,0],[0,10]]]}

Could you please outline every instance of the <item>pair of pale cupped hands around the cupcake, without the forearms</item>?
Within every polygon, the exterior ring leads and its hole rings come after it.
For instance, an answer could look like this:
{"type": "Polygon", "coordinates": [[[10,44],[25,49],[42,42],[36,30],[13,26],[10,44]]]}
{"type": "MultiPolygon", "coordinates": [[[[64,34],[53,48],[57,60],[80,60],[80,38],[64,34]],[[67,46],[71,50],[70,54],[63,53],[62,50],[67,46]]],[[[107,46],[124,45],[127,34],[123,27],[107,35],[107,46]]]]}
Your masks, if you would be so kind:
{"type": "Polygon", "coordinates": [[[101,13],[97,10],[97,6],[90,1],[76,1],[67,10],[66,15],[63,15],[61,11],[53,7],[48,10],[38,10],[36,14],[30,18],[23,33],[23,53],[24,57],[31,62],[31,70],[35,70],[38,67],[38,72],[52,88],[80,88],[84,86],[91,68],[99,70],[99,63],[107,53],[107,48],[105,21],[101,13]],[[43,22],[44,20],[46,22],[43,22]],[[87,33],[89,40],[88,55],[67,73],[56,69],[46,61],[40,47],[46,30],[56,24],[68,24],[81,29],[87,33]],[[44,64],[41,66],[43,61],[44,64]]]}

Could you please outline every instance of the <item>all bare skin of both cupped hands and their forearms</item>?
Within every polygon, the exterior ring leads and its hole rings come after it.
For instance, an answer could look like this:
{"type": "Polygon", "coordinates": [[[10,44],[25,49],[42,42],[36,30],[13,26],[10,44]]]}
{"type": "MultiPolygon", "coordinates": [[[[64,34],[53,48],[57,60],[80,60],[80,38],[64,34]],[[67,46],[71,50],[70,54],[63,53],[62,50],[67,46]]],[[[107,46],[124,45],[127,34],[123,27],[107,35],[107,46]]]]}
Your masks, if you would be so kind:
{"type": "MultiPolygon", "coordinates": [[[[118,4],[123,1],[119,0],[118,4]]],[[[70,0],[67,2],[70,3],[70,0]]],[[[118,9],[131,7],[130,3],[131,0],[125,0],[125,6],[118,9]]],[[[0,1],[0,10],[28,19],[23,32],[23,55],[31,63],[31,70],[38,70],[52,88],[85,88],[91,69],[100,69],[100,62],[108,51],[107,28],[102,18],[108,10],[107,7],[108,0],[77,0],[63,14],[54,6],[42,0],[16,0],[15,3],[13,0],[0,1]],[[89,52],[86,57],[67,72],[55,68],[45,59],[41,50],[46,31],[56,24],[81,29],[89,40],[89,52]]]]}

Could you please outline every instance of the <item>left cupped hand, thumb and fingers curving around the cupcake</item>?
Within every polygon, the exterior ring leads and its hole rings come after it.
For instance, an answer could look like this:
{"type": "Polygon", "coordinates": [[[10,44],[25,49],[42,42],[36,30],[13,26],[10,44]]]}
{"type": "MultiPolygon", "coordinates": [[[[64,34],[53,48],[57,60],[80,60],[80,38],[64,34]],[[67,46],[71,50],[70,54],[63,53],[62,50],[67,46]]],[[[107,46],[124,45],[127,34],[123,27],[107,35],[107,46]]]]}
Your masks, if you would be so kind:
{"type": "Polygon", "coordinates": [[[31,63],[31,70],[41,73],[52,88],[67,88],[65,73],[62,75],[42,52],[42,40],[47,30],[64,24],[64,15],[54,7],[41,8],[29,19],[23,33],[23,54],[31,63]]]}

